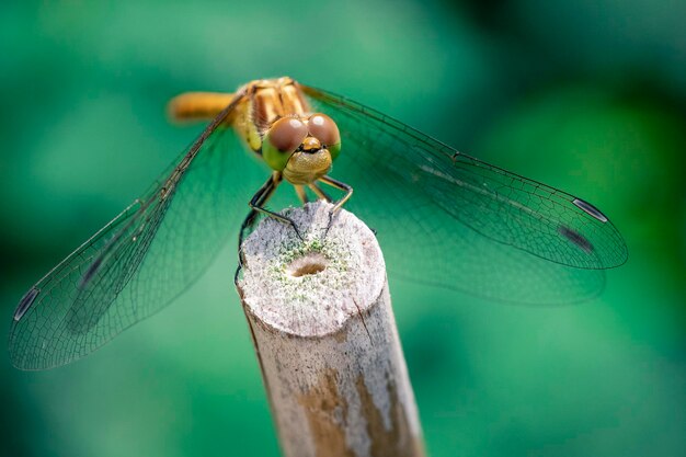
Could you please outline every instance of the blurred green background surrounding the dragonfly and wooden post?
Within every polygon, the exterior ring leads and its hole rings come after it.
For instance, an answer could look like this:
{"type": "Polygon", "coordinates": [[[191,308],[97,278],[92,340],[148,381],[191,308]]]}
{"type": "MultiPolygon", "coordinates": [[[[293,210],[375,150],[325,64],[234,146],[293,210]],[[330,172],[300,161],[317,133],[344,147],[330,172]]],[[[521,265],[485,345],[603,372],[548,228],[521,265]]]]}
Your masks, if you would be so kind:
{"type": "MultiPolygon", "coordinates": [[[[684,18],[668,0],[3,2],[1,335],[196,134],[167,123],[170,96],[288,75],[597,202],[627,239],[579,306],[391,284],[431,456],[684,456],[684,18]]],[[[81,362],[2,358],[0,454],[277,456],[232,248],[81,362]]]]}

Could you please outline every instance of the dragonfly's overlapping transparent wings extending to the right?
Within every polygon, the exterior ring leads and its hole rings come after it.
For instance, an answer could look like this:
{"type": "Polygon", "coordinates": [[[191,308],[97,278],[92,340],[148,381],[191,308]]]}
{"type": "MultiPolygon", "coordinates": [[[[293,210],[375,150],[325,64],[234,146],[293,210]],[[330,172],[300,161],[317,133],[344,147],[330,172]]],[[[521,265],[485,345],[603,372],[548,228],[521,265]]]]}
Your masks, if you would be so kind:
{"type": "Polygon", "coordinates": [[[458,152],[348,99],[302,87],[339,125],[330,173],[377,230],[389,272],[506,301],[595,296],[625,242],[594,206],[458,152]]]}

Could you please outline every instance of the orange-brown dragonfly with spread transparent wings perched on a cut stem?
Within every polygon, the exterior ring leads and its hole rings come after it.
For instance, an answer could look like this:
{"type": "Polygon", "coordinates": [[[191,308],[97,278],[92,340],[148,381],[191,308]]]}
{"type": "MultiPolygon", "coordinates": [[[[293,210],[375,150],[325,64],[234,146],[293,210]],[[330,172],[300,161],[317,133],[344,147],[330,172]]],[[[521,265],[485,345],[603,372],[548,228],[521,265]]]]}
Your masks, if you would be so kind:
{"type": "Polygon", "coordinates": [[[9,340],[16,367],[70,363],[159,311],[230,238],[240,251],[260,215],[293,225],[267,202],[345,204],[375,229],[393,281],[493,300],[586,300],[603,289],[604,271],[627,260],[621,235],[591,203],[290,78],[184,93],[170,112],[209,124],[21,298],[9,340]],[[244,146],[251,152],[237,153],[244,146]]]}

